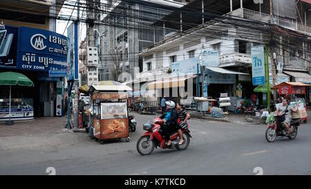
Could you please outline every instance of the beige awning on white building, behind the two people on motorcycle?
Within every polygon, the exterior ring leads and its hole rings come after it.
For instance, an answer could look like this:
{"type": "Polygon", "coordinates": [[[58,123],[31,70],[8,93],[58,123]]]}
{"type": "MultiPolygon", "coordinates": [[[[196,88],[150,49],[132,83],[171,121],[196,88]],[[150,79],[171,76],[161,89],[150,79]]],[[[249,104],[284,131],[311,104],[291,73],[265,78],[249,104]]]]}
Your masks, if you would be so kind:
{"type": "Polygon", "coordinates": [[[179,78],[166,78],[164,80],[151,82],[148,84],[148,89],[164,89],[172,87],[185,87],[185,80],[196,78],[196,75],[179,78]]]}

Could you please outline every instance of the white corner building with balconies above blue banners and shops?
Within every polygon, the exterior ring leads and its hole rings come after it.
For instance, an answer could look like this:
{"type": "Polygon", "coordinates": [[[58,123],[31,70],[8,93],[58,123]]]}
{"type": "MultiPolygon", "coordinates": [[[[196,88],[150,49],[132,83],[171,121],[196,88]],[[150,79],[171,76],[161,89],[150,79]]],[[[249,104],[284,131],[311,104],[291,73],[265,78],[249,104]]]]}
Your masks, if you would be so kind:
{"type": "MultiPolygon", "coordinates": [[[[188,62],[196,65],[200,58],[204,59],[201,56],[204,51],[213,51],[218,57],[217,64],[208,69],[208,96],[219,98],[220,93],[228,93],[236,98],[236,89],[242,86],[243,98],[249,98],[254,93],[252,46],[274,41],[277,42],[272,50],[274,62],[283,65],[283,72],[276,75],[276,83],[290,80],[310,83],[310,6],[311,2],[307,0],[265,0],[263,4],[256,4],[253,0],[191,1],[155,24],[165,24],[175,29],[175,33],[169,39],[142,50],[139,54],[143,60],[142,73],[135,79],[145,81],[157,75],[173,78],[176,76],[174,71],[167,73],[173,69],[172,64],[188,62]],[[200,11],[203,14],[194,13],[200,11]],[[293,34],[303,37],[297,40],[293,34]]],[[[270,82],[271,57],[272,54],[270,82]]],[[[196,67],[193,74],[196,75],[196,67]]],[[[193,80],[194,96],[203,96],[203,80],[200,75],[198,94],[196,79],[193,80]]],[[[260,98],[265,99],[265,96],[260,98]]]]}

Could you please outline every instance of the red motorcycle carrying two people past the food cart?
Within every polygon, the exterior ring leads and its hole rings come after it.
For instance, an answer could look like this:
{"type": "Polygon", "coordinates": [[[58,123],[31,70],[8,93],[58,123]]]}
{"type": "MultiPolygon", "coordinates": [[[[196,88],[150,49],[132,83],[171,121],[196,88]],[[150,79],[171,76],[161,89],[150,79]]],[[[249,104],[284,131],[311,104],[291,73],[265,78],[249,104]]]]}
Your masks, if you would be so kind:
{"type": "MultiPolygon", "coordinates": [[[[154,124],[145,123],[143,125],[143,129],[146,130],[142,136],[140,136],[140,139],[138,139],[137,142],[137,150],[140,154],[149,155],[151,152],[153,152],[154,148],[162,148],[165,149],[165,138],[162,136],[162,130],[161,126],[163,125],[163,121],[160,118],[154,119],[154,124]]],[[[189,134],[190,131],[188,129],[189,124],[186,128],[182,129],[182,138],[184,139],[184,143],[181,145],[178,145],[179,139],[178,139],[178,132],[175,132],[171,134],[171,147],[169,149],[177,149],[177,150],[185,150],[189,143],[190,138],[192,136],[189,134]]]]}

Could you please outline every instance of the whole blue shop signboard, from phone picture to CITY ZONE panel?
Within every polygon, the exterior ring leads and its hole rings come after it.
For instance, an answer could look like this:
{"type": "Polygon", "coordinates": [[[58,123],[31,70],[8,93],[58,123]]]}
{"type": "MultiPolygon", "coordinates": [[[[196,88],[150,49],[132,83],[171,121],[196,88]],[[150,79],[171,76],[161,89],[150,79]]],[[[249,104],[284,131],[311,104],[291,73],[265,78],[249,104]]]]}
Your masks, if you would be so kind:
{"type": "Polygon", "coordinates": [[[0,67],[23,70],[66,71],[64,35],[27,27],[0,28],[0,67]]]}

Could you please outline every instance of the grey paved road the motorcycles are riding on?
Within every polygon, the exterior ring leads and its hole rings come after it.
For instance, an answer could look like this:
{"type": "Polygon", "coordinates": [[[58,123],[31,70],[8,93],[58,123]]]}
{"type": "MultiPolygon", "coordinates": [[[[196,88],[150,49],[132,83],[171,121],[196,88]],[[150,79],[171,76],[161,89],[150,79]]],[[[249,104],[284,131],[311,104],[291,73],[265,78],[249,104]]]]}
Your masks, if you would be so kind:
{"type": "Polygon", "coordinates": [[[104,145],[77,134],[78,143],[0,151],[0,174],[311,174],[311,125],[299,127],[296,139],[265,140],[265,125],[236,125],[192,119],[194,138],[187,150],[155,150],[138,154],[135,145],[142,123],[153,116],[135,114],[138,130],[131,142],[104,145]]]}

